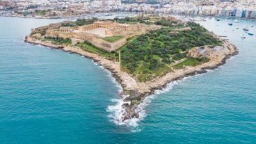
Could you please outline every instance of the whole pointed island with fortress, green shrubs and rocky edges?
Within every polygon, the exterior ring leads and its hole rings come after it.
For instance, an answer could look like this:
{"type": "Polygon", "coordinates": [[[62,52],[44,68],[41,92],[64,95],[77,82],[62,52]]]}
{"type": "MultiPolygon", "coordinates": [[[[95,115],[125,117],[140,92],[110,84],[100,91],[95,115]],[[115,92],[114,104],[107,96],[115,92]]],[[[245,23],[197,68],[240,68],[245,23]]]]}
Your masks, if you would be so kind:
{"type": "Polygon", "coordinates": [[[139,118],[138,105],[167,83],[207,72],[238,49],[195,22],[139,15],[77,19],[31,30],[25,42],[92,58],[109,70],[126,95],[120,122],[139,118]]]}

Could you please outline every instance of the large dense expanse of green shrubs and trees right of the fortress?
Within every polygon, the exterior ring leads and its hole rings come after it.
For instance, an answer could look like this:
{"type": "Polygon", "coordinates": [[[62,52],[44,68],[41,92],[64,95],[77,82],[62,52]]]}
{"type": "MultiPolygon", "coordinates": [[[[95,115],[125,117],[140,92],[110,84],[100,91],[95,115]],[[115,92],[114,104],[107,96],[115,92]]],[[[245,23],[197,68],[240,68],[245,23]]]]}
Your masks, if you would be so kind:
{"type": "Polygon", "coordinates": [[[164,22],[163,19],[161,24],[168,27],[139,35],[121,49],[122,70],[134,75],[139,81],[148,81],[170,72],[172,70],[170,65],[181,59],[184,61],[174,65],[173,68],[204,63],[208,61],[207,58],[190,58],[186,56],[187,50],[204,45],[219,45],[218,40],[209,35],[208,31],[199,24],[189,22],[185,26],[190,26],[191,31],[175,31],[175,33],[172,33],[173,29],[182,25],[173,26],[168,24],[168,20],[164,22]]]}

